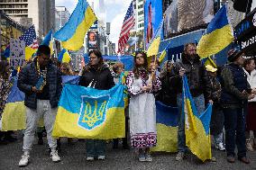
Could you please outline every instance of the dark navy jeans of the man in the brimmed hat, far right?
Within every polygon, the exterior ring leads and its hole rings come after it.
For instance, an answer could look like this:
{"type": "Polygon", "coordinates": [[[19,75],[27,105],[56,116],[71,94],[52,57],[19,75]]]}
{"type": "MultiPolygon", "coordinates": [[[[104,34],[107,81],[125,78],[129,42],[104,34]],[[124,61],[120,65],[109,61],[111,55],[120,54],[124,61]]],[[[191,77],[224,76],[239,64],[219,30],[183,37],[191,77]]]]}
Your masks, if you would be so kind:
{"type": "Polygon", "coordinates": [[[239,158],[246,157],[245,113],[242,108],[224,108],[225,148],[227,156],[234,157],[235,144],[239,158]]]}

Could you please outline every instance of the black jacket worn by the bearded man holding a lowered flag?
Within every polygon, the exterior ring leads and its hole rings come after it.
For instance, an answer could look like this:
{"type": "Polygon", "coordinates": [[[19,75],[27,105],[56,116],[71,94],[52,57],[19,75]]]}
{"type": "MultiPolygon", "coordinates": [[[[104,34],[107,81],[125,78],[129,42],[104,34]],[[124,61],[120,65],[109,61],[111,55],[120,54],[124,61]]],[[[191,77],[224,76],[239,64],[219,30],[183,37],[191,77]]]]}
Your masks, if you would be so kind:
{"type": "Polygon", "coordinates": [[[181,67],[186,69],[187,81],[192,96],[205,94],[206,101],[210,100],[211,85],[199,56],[197,55],[194,60],[191,60],[183,53],[181,59],[174,64],[175,76],[170,77],[170,82],[175,83],[178,94],[182,92],[182,78],[179,76],[181,67]]]}

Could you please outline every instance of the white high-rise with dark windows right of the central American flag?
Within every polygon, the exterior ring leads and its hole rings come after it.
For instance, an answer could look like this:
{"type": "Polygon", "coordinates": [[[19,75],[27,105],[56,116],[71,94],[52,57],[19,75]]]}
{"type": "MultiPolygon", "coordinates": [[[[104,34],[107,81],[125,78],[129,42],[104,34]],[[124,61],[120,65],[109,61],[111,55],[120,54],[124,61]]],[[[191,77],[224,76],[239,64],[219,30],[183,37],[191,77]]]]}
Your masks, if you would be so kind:
{"type": "Polygon", "coordinates": [[[133,0],[135,25],[133,31],[144,30],[144,0],[133,0]]]}

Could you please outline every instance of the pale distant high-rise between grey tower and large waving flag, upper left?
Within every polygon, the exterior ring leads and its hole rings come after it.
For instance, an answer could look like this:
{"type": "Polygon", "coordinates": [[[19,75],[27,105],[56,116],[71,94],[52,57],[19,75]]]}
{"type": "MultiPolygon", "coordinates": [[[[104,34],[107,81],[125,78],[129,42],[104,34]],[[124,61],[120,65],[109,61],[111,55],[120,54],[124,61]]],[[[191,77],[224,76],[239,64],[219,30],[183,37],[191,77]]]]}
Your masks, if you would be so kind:
{"type": "Polygon", "coordinates": [[[58,25],[56,25],[56,29],[59,30],[61,27],[65,25],[66,22],[69,21],[70,13],[65,6],[56,6],[57,16],[55,15],[55,19],[59,20],[58,25]]]}

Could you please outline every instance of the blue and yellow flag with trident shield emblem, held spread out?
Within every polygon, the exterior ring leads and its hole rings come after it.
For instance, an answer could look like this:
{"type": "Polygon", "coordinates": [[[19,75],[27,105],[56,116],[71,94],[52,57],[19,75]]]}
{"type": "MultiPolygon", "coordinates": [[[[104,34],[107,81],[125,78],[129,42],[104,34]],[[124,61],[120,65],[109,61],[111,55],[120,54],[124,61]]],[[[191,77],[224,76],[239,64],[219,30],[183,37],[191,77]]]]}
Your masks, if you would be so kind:
{"type": "Polygon", "coordinates": [[[65,85],[52,135],[78,139],[124,137],[123,85],[96,90],[65,85]]]}

